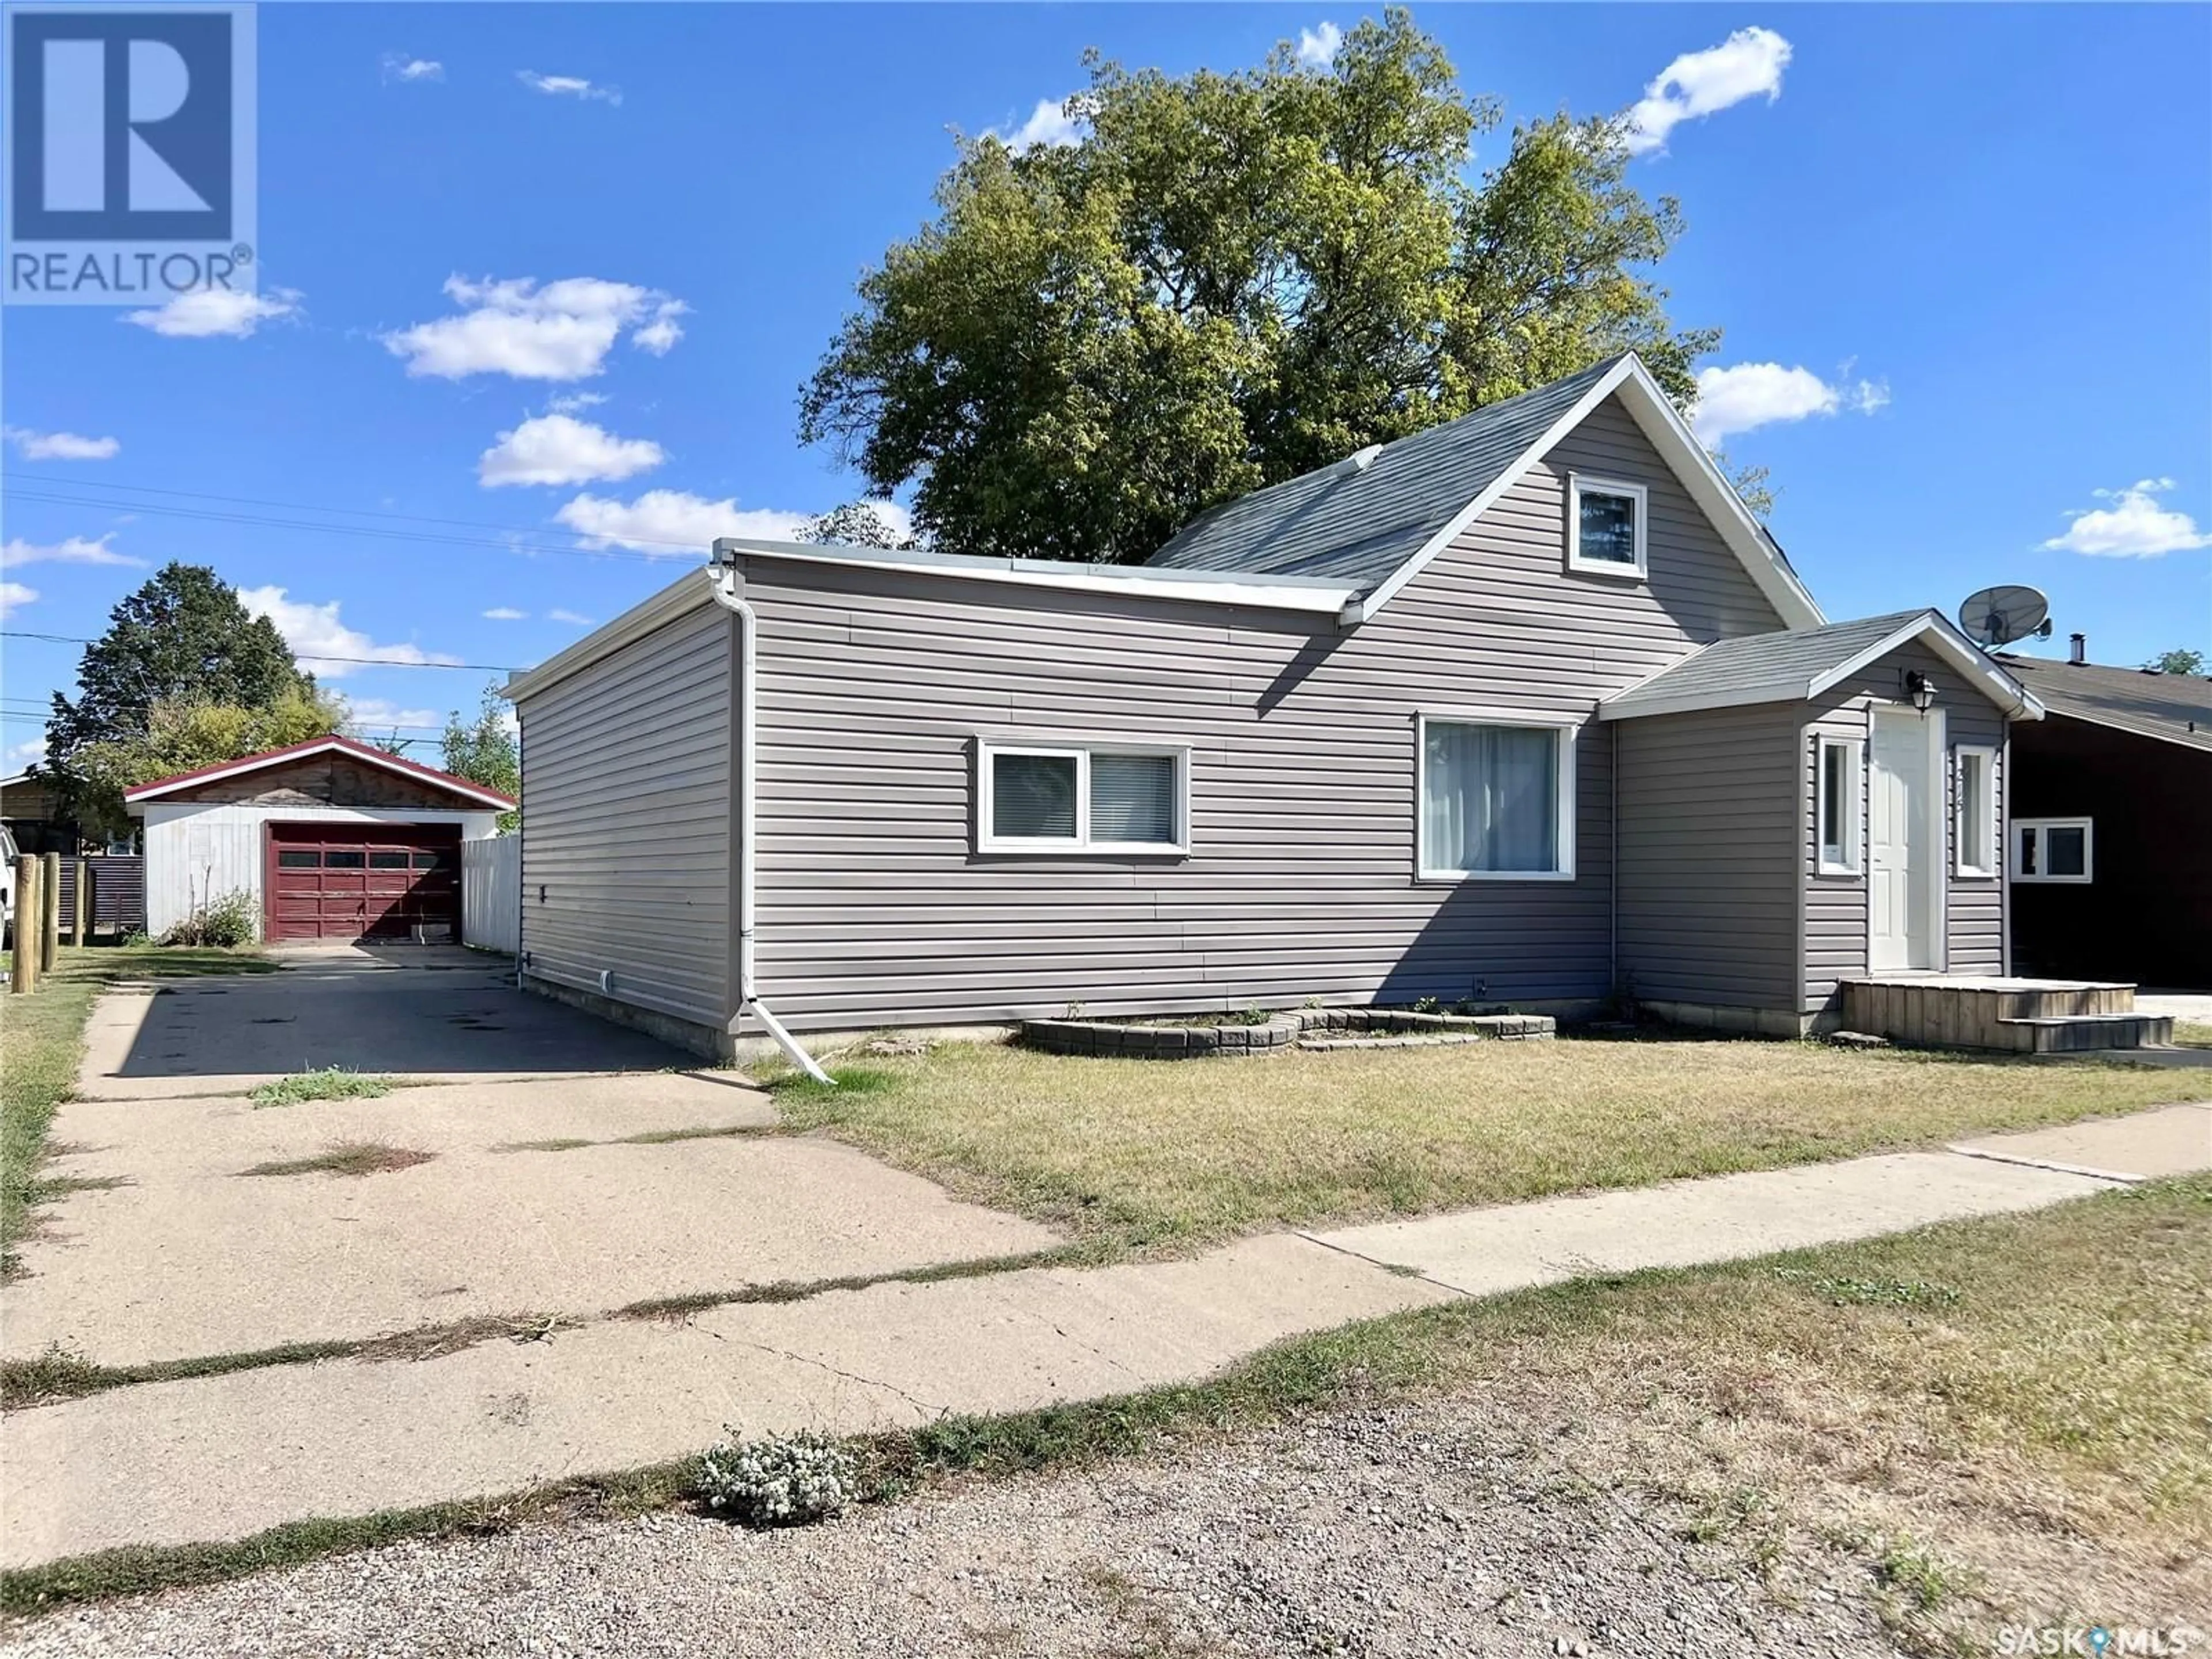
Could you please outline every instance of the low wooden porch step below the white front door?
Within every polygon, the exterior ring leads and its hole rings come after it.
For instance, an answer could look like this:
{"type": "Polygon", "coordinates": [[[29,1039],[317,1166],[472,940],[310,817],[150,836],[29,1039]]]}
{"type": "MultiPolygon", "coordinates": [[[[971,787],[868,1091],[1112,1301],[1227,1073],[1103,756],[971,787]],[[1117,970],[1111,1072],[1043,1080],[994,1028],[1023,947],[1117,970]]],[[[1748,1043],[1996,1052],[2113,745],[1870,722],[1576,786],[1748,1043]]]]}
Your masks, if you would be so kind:
{"type": "Polygon", "coordinates": [[[1891,1042],[2075,1053],[2172,1042],[2172,1020],[2135,1011],[2135,987],[1913,973],[1843,982],[1843,1024],[1891,1042]]]}

